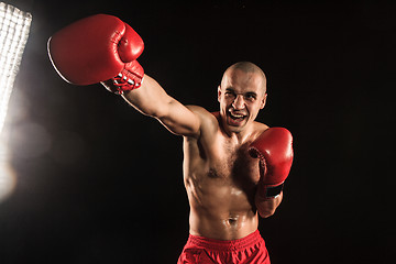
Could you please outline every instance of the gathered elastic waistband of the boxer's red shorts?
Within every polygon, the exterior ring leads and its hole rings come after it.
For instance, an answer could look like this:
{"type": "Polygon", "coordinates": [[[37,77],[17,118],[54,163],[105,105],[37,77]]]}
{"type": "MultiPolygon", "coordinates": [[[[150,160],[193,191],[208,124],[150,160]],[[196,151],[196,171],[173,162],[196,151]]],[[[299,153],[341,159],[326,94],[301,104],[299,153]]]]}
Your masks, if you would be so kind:
{"type": "Polygon", "coordinates": [[[216,251],[240,251],[246,248],[251,248],[260,242],[264,243],[264,240],[261,237],[258,230],[238,240],[215,240],[190,234],[187,241],[189,244],[216,251]]]}

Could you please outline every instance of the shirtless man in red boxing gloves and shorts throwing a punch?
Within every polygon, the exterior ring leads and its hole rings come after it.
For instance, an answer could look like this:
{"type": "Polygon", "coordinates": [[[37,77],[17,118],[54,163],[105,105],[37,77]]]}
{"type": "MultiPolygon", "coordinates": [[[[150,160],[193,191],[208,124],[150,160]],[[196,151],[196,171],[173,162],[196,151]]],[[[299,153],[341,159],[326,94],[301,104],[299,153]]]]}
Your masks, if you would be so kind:
{"type": "Polygon", "coordinates": [[[63,29],[48,52],[67,81],[100,81],[184,138],[190,235],[178,263],[270,263],[258,215],[267,218],[279,206],[293,148],[287,130],[254,121],[267,98],[256,65],[241,62],[224,72],[220,111],[211,113],[182,105],[144,75],[135,61],[143,41],[114,16],[94,15],[63,29]]]}

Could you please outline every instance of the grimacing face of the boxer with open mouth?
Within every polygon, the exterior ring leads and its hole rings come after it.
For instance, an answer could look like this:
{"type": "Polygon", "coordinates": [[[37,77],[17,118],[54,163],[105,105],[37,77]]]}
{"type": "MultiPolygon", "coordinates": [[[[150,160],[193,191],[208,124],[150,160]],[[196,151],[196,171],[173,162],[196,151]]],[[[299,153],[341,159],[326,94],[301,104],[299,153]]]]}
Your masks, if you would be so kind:
{"type": "Polygon", "coordinates": [[[218,89],[224,129],[233,133],[253,123],[266,100],[265,80],[258,73],[228,70],[218,89]]]}

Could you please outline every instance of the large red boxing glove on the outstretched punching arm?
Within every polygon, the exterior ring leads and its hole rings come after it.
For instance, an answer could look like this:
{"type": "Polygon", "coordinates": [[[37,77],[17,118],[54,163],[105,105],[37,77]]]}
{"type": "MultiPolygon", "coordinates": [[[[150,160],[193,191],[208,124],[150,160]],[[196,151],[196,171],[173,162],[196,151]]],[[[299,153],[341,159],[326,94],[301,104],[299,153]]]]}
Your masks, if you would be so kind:
{"type": "Polygon", "coordinates": [[[50,37],[47,48],[55,69],[70,84],[112,79],[118,94],[141,86],[144,70],[135,59],[144,43],[116,16],[96,14],[79,20],[50,37]]]}

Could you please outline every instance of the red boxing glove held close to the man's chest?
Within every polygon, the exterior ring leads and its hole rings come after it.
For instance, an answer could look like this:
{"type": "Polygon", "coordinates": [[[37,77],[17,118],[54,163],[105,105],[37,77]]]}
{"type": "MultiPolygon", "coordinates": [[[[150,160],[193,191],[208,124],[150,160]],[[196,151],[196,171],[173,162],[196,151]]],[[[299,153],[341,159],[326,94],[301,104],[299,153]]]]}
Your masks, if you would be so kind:
{"type": "Polygon", "coordinates": [[[249,147],[254,158],[260,158],[263,198],[280,194],[293,163],[293,136],[287,129],[271,128],[264,131],[249,147]]]}

